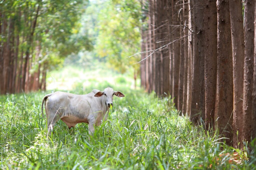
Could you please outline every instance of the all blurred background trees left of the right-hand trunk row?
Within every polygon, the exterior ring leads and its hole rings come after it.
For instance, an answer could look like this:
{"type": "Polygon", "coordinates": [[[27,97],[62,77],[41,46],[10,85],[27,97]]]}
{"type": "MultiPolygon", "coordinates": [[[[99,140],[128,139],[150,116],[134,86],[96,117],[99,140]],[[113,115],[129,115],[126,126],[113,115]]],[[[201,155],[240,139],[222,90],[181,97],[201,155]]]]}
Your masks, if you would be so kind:
{"type": "MultiPolygon", "coordinates": [[[[139,74],[143,1],[0,1],[1,94],[46,89],[63,64],[139,74]]],[[[144,17],[145,18],[145,17],[144,17]]],[[[136,83],[135,83],[136,86],[136,83]]]]}

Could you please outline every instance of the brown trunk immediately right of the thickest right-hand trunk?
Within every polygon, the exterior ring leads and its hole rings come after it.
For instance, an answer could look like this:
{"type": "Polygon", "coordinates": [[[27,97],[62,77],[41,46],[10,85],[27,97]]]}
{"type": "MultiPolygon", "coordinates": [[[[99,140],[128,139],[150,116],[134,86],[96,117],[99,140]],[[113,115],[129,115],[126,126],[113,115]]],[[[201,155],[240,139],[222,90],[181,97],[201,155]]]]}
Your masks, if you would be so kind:
{"type": "Polygon", "coordinates": [[[242,3],[232,0],[229,3],[232,53],[233,53],[233,146],[239,148],[242,144],[243,120],[243,66],[244,66],[244,31],[242,3]],[[236,135],[238,132],[238,135],[236,135]]]}

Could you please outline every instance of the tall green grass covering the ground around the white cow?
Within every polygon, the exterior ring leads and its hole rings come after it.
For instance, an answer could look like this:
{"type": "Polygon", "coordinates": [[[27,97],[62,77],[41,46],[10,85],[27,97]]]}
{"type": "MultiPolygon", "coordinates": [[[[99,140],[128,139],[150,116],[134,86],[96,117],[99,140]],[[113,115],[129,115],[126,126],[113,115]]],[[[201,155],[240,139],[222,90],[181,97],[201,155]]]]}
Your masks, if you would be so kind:
{"type": "Polygon", "coordinates": [[[69,90],[86,94],[112,86],[125,94],[114,98],[108,120],[91,137],[85,123],[69,129],[58,121],[51,140],[46,139],[41,102],[50,90],[0,96],[0,169],[256,168],[253,148],[247,154],[228,147],[215,132],[205,133],[202,126],[179,116],[170,97],[131,89],[132,79],[126,76],[115,73],[110,77],[111,82],[95,84],[95,78],[86,85],[82,83],[86,78],[80,79],[69,90]]]}

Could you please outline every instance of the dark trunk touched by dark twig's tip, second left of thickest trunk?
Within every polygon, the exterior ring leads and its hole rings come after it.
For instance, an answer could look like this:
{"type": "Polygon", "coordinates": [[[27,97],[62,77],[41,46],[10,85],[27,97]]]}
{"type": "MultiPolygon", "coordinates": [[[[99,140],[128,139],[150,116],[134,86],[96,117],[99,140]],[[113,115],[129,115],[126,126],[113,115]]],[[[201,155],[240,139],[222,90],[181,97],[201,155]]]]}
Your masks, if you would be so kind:
{"type": "Polygon", "coordinates": [[[200,123],[204,117],[204,10],[203,1],[194,1],[193,12],[193,60],[192,60],[192,91],[191,115],[193,123],[200,123]]]}

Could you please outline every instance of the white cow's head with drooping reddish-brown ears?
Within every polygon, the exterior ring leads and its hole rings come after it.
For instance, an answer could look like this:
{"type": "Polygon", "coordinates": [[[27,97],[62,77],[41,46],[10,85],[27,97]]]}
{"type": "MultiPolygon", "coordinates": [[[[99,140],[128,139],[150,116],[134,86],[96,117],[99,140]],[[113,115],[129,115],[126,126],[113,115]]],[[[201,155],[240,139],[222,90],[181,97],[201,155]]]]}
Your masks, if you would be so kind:
{"type": "Polygon", "coordinates": [[[104,89],[104,91],[97,92],[94,96],[95,97],[101,97],[104,95],[104,101],[107,105],[107,107],[113,106],[113,97],[116,95],[117,97],[124,97],[124,94],[120,91],[114,91],[112,88],[107,87],[104,89]]]}

